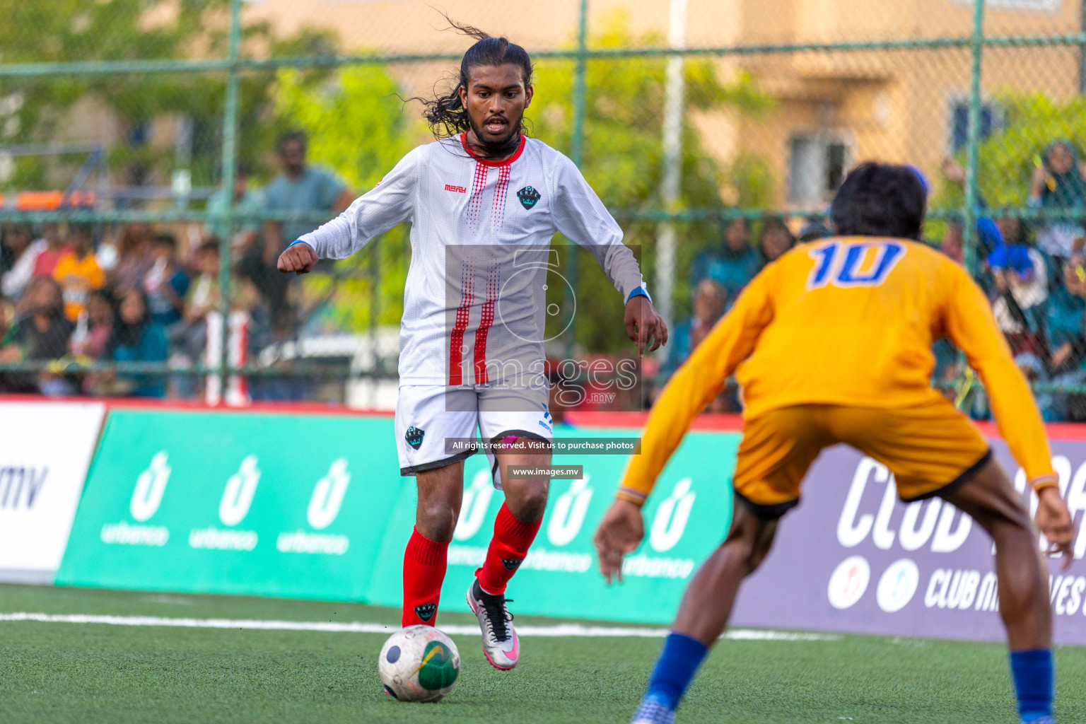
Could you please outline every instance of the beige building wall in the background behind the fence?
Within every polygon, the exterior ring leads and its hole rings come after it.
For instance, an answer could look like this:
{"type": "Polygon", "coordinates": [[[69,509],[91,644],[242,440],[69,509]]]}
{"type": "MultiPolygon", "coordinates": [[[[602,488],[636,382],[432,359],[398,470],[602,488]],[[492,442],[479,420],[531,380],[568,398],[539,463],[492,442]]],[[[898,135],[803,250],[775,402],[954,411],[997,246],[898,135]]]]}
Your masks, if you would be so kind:
{"type": "MultiPolygon", "coordinates": [[[[578,0],[449,0],[443,8],[454,20],[507,35],[530,50],[552,50],[572,47],[579,5],[578,0]]],[[[591,29],[621,12],[634,34],[655,34],[657,42],[666,37],[665,0],[592,0],[590,8],[591,29]]],[[[992,0],[985,31],[1075,33],[1078,13],[1072,0],[992,0]]],[[[245,18],[268,21],[283,33],[333,29],[348,50],[359,52],[455,54],[468,42],[442,29],[444,18],[415,0],[254,0],[245,18]]],[[[965,37],[972,18],[969,0],[689,0],[686,40],[689,47],[730,47],[965,37]]],[[[759,118],[727,109],[694,112],[692,122],[724,167],[744,152],[769,162],[778,204],[788,202],[794,139],[844,142],[853,163],[882,158],[936,173],[950,151],[952,107],[969,97],[968,48],[743,54],[715,62],[723,78],[754,74],[776,106],[759,118]]],[[[395,72],[414,93],[427,92],[454,68],[454,62],[403,64],[395,72]]],[[[1066,98],[1078,87],[1078,50],[989,49],[984,74],[986,96],[1012,89],[1066,98]]],[[[725,182],[722,196],[730,195],[734,190],[725,182]]]]}

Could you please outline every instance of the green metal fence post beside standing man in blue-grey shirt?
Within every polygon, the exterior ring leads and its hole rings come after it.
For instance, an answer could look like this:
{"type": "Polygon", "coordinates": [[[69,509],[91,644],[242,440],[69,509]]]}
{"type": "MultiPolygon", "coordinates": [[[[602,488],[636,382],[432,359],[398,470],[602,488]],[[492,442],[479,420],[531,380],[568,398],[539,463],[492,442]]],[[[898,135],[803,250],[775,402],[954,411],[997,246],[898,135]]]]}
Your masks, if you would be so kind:
{"type": "Polygon", "coordinates": [[[241,67],[241,0],[230,0],[230,47],[229,69],[226,76],[226,105],[223,109],[223,193],[226,194],[226,207],[223,216],[223,228],[227,230],[226,238],[218,240],[218,313],[223,318],[222,344],[218,355],[219,401],[226,402],[229,382],[229,341],[230,341],[230,234],[233,232],[233,180],[238,166],[238,86],[241,67]]]}

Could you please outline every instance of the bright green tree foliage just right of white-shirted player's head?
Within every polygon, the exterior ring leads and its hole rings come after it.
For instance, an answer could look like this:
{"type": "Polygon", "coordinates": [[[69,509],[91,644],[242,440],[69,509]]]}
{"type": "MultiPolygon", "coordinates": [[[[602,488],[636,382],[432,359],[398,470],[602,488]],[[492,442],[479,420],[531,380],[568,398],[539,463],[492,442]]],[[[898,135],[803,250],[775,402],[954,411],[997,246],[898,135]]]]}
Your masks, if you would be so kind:
{"type": "MultiPolygon", "coordinates": [[[[660,39],[648,34],[635,37],[624,14],[613,14],[603,31],[590,40],[594,48],[658,46],[660,39]]],[[[581,168],[585,178],[613,209],[661,211],[662,117],[667,85],[667,60],[664,58],[624,58],[593,60],[586,67],[584,153],[581,168]]],[[[732,82],[721,82],[710,61],[687,59],[684,64],[685,107],[682,128],[682,174],[677,208],[721,208],[720,189],[731,186],[740,192],[744,206],[760,206],[772,193],[768,164],[753,155],[741,156],[731,168],[721,168],[702,144],[698,131],[690,123],[691,110],[731,109],[760,114],[772,100],[758,91],[749,75],[740,74],[732,82]]],[[[535,80],[535,99],[530,109],[534,135],[566,153],[573,132],[574,64],[571,61],[541,62],[535,80]]],[[[657,225],[620,219],[626,242],[640,246],[645,279],[654,279],[657,225]]],[[[717,243],[721,228],[717,221],[677,225],[675,302],[680,310],[689,307],[686,277],[694,255],[707,244],[717,243]]],[[[622,300],[610,287],[601,283],[601,271],[588,255],[578,261],[577,302],[582,312],[576,320],[576,342],[589,350],[623,350],[629,341],[622,328],[622,300]],[[585,314],[591,309],[591,314],[585,314]]],[[[558,302],[558,300],[552,300],[558,302]]]]}

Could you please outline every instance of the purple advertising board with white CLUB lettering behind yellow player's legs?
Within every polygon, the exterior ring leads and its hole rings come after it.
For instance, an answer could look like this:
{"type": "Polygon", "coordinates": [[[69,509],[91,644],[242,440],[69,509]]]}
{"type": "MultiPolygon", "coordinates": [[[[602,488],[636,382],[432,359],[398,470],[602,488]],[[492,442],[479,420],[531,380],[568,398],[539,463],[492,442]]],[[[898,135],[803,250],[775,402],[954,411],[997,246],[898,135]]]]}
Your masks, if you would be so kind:
{"type": "MultiPolygon", "coordinates": [[[[992,447],[1024,495],[1025,474],[1007,445],[992,441],[992,447]]],[[[1056,643],[1086,645],[1079,560],[1086,554],[1086,441],[1053,441],[1052,463],[1079,526],[1071,569],[1049,561],[1056,643]]],[[[938,498],[905,505],[885,467],[834,447],[812,466],[799,506],[744,584],[733,624],[1003,640],[993,552],[987,534],[958,509],[938,498]]]]}

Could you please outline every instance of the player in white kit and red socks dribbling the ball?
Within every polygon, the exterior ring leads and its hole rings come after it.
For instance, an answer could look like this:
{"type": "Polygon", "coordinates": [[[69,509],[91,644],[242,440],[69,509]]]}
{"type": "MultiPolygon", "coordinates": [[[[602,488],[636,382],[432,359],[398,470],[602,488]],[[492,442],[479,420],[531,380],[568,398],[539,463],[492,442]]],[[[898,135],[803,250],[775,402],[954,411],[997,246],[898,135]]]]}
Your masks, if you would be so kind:
{"type": "Polygon", "coordinates": [[[416,148],[374,190],[303,234],[278,266],[304,274],[318,258],[345,258],[411,221],[395,428],[401,472],[416,477],[418,508],[404,556],[403,624],[435,623],[463,460],[472,453],[451,442],[473,440],[478,430],[505,503],[468,604],[487,659],[507,670],[520,647],[505,588],[539,530],[550,485],[547,475],[517,478],[508,468],[551,463],[543,341],[547,270],[558,253],[552,237],[560,232],[596,257],[627,303],[622,323],[639,354],[665,343],[667,328],[622,230],[580,170],[521,134],[533,93],[528,53],[456,27],[478,42],[464,55],[458,86],[427,102],[439,140],[416,148]]]}

